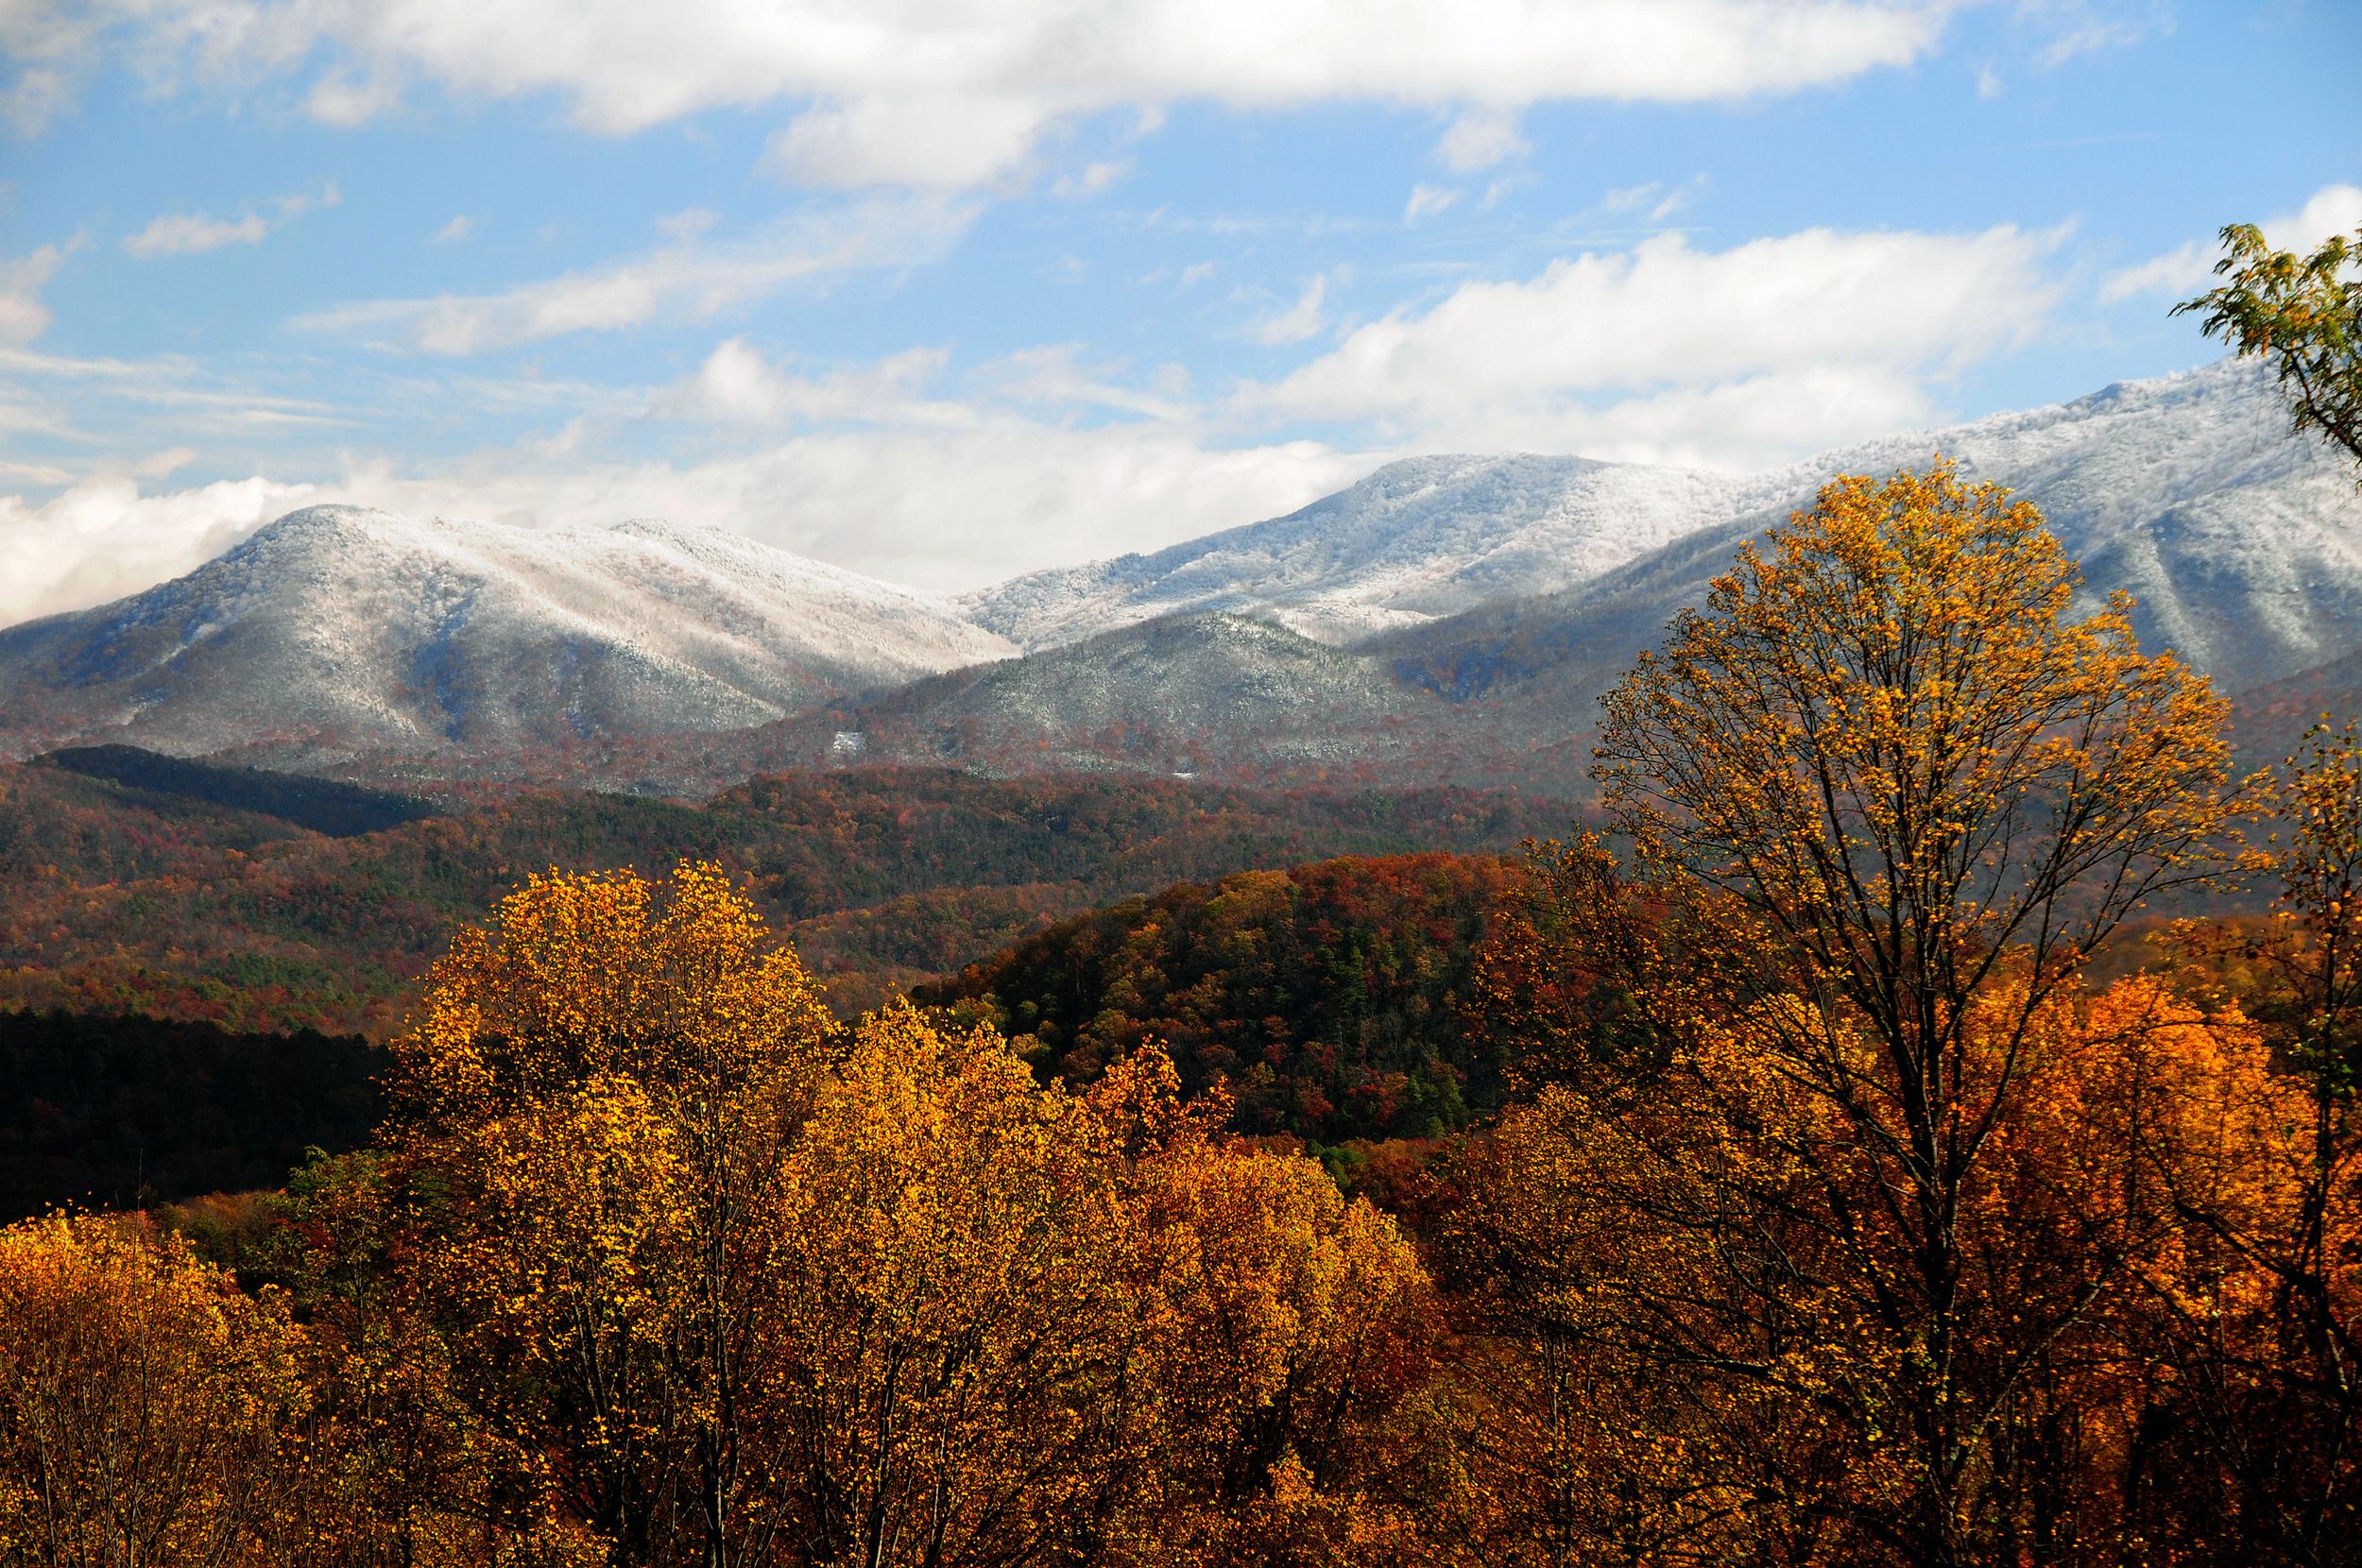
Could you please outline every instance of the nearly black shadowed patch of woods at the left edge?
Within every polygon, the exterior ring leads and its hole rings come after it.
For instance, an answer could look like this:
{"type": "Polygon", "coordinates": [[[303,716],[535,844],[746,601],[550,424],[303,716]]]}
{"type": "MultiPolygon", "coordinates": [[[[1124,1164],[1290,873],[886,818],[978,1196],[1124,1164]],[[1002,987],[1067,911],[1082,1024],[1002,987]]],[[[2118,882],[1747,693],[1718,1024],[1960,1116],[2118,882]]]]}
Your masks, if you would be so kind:
{"type": "Polygon", "coordinates": [[[352,1037],[0,1013],[0,1223],[276,1188],[383,1112],[385,1053],[352,1037]]]}

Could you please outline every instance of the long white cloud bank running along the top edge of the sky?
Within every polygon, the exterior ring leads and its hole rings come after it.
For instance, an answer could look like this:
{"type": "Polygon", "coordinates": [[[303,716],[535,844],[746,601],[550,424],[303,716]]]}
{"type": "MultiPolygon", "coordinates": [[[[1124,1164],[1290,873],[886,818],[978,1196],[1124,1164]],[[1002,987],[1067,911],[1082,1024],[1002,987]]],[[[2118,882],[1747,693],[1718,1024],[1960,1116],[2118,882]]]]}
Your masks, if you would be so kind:
{"type": "MultiPolygon", "coordinates": [[[[158,85],[229,90],[317,71],[309,111],[350,125],[406,83],[456,97],[557,94],[633,132],[718,106],[796,106],[772,165],[810,184],[964,189],[1020,175],[1044,130],[1179,102],[1460,106],[1441,156],[1512,153],[1509,116],[1554,99],[1755,99],[1899,68],[1934,50],[1949,0],[83,0],[24,71],[71,92],[94,38],[158,85]]],[[[45,97],[47,94],[47,97],[45,97]]],[[[24,113],[35,113],[33,109],[24,113]]],[[[40,109],[38,113],[50,113],[40,109]]],[[[1476,168],[1469,163],[1467,168],[1476,168]]]]}

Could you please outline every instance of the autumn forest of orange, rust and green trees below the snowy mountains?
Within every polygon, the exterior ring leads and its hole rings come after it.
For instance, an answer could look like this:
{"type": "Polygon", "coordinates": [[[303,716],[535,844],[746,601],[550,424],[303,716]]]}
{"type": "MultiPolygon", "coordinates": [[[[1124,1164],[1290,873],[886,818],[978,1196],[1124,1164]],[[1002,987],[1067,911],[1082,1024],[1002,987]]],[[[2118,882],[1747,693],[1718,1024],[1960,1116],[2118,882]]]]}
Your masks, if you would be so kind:
{"type": "Polygon", "coordinates": [[[2362,732],[2038,501],[1831,479],[1573,819],[17,770],[0,1563],[2362,1559],[2362,732]]]}

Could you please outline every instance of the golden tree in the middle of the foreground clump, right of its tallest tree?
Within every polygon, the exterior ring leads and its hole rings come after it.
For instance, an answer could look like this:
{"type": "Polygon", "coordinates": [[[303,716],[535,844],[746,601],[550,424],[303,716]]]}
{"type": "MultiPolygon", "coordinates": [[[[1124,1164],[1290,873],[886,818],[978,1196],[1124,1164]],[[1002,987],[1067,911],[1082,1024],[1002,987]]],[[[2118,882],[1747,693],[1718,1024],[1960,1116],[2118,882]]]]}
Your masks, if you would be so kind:
{"type": "Polygon", "coordinates": [[[1153,1462],[1143,1259],[1091,1110],[864,1020],[782,1188],[779,1561],[1075,1561],[1153,1462]]]}

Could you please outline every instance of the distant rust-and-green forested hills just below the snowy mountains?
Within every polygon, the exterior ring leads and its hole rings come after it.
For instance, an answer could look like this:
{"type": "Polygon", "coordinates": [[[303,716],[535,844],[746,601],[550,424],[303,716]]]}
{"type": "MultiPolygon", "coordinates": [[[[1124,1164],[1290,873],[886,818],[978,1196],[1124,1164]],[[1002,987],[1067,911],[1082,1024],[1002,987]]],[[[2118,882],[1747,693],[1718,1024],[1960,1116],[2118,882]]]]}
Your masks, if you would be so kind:
{"type": "Polygon", "coordinates": [[[704,805],[477,791],[342,838],[64,767],[0,767],[0,1006],[380,1037],[458,923],[548,867],[723,864],[794,930],[831,994],[867,1006],[1174,881],[1344,852],[1505,850],[1568,819],[1514,791],[1264,793],[900,767],[753,779],[704,805]]]}

